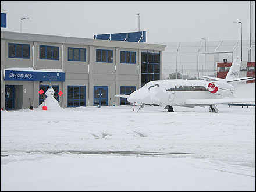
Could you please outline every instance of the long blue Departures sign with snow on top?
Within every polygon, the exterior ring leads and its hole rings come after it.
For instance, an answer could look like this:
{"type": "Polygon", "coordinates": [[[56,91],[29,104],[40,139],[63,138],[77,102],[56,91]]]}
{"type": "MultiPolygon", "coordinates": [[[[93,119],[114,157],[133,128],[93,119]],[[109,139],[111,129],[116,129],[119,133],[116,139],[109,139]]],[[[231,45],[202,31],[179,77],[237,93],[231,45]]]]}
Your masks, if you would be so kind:
{"type": "Polygon", "coordinates": [[[5,70],[5,81],[65,81],[64,72],[5,70]]]}

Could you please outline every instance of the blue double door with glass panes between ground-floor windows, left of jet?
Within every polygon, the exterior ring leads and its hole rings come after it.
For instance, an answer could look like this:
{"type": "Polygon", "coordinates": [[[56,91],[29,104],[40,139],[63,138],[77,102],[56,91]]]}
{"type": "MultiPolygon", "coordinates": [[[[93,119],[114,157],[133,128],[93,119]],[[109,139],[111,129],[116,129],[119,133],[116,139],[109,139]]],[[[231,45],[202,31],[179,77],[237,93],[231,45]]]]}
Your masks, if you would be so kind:
{"type": "Polygon", "coordinates": [[[108,106],[108,86],[94,86],[94,106],[108,106]]]}

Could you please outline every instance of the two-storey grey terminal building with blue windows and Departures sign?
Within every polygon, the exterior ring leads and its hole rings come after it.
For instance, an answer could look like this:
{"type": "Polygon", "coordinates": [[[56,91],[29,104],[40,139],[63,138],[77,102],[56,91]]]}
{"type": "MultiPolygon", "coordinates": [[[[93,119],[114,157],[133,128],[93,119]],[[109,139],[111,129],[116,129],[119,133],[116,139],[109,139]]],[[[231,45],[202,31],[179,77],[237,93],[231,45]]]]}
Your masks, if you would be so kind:
{"type": "Polygon", "coordinates": [[[1,109],[37,108],[50,82],[62,108],[126,105],[114,95],[162,80],[165,47],[1,31],[1,109]]]}

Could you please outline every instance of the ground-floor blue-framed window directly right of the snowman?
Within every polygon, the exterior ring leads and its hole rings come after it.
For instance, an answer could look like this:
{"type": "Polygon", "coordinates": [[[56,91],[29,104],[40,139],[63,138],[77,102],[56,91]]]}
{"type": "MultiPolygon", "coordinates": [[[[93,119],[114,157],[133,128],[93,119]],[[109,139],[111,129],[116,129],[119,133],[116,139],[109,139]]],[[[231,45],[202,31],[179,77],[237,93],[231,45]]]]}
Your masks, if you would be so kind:
{"type": "Polygon", "coordinates": [[[86,106],[86,86],[67,86],[67,107],[86,106]]]}

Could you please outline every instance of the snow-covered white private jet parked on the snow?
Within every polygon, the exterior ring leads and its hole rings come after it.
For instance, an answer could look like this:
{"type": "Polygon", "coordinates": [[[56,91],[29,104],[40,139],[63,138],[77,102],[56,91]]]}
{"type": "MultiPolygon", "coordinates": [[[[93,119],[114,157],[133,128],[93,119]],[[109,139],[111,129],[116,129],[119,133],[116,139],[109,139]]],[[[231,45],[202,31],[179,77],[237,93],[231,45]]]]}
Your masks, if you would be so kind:
{"type": "MultiPolygon", "coordinates": [[[[235,98],[233,93],[237,83],[255,80],[255,77],[240,77],[241,61],[234,59],[225,79],[203,76],[215,80],[159,80],[150,81],[130,95],[115,95],[127,98],[130,104],[139,105],[138,111],[145,105],[166,105],[164,109],[173,112],[173,106],[209,106],[209,112],[218,112],[216,105],[255,102],[255,98],[235,98]]],[[[134,108],[133,108],[134,109],[134,108]]]]}

